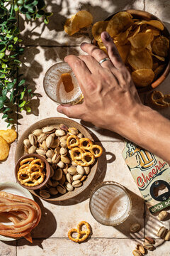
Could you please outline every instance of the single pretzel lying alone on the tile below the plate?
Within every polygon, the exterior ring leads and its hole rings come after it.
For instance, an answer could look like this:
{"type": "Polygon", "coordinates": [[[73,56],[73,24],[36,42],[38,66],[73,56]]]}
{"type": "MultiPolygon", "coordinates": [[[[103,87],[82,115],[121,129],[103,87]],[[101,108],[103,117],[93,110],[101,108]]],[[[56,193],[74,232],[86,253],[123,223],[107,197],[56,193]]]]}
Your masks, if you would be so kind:
{"type": "Polygon", "coordinates": [[[81,221],[77,225],[77,228],[72,228],[71,230],[69,230],[68,238],[73,242],[84,242],[84,240],[86,240],[89,237],[90,233],[91,233],[91,228],[89,223],[87,223],[86,221],[81,221]],[[86,225],[86,230],[81,230],[81,227],[83,225],[86,225]],[[78,234],[77,238],[73,238],[72,233],[77,233],[78,234]]]}

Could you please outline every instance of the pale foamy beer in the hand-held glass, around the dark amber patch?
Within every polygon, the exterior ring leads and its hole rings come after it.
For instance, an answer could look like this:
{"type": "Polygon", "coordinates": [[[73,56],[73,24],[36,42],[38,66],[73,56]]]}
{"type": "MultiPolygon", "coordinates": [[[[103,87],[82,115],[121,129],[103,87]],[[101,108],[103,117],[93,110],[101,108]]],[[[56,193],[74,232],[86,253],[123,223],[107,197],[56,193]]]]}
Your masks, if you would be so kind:
{"type": "Polygon", "coordinates": [[[66,104],[74,102],[81,97],[81,90],[77,79],[72,72],[72,68],[67,63],[57,63],[53,65],[45,74],[44,87],[47,95],[55,102],[66,104]],[[69,73],[72,77],[74,89],[66,92],[61,80],[62,73],[69,73]]]}

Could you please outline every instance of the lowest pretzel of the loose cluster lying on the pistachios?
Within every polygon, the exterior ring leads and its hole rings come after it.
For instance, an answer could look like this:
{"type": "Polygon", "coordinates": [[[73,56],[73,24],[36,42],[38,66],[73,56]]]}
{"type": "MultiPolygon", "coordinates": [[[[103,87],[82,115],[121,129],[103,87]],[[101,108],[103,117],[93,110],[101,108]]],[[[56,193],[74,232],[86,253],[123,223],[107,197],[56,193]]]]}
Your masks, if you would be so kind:
{"type": "Polygon", "coordinates": [[[71,149],[71,157],[72,157],[72,161],[74,161],[76,164],[79,164],[81,166],[89,166],[93,164],[95,160],[94,154],[91,154],[91,152],[84,152],[82,149],[78,147],[71,149]],[[77,153],[79,155],[76,155],[77,153]],[[89,156],[91,160],[86,161],[86,156],[89,156]]]}

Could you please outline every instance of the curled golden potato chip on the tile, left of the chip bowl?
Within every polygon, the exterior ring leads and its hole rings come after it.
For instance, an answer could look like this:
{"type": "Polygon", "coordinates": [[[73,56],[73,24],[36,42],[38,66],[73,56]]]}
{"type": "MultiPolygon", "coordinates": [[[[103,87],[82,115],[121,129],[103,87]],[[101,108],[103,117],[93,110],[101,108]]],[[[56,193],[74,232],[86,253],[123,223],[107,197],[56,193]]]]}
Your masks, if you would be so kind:
{"type": "Polygon", "coordinates": [[[80,28],[85,28],[93,22],[93,16],[89,11],[78,11],[72,18],[67,18],[64,24],[64,31],[72,36],[77,33],[80,28]]]}

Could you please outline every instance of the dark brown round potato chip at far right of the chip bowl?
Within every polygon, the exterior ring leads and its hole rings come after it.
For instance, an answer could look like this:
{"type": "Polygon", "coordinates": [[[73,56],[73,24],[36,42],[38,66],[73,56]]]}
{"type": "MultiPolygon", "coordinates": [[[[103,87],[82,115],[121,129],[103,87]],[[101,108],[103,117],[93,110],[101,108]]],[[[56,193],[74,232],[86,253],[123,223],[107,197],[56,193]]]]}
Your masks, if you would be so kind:
{"type": "Polygon", "coordinates": [[[154,42],[152,43],[152,50],[155,54],[166,57],[169,52],[169,39],[165,36],[159,36],[154,39],[154,42]]]}

